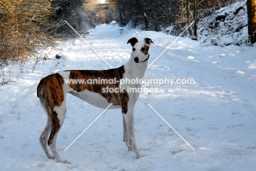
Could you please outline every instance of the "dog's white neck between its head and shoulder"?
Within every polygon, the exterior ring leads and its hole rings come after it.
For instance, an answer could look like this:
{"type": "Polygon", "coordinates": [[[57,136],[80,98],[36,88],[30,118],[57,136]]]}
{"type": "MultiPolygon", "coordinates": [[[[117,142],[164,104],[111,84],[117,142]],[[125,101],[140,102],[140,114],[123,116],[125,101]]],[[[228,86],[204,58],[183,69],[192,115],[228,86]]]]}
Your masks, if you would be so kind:
{"type": "Polygon", "coordinates": [[[148,66],[148,61],[136,63],[131,56],[130,60],[124,64],[125,73],[130,79],[142,79],[148,66]]]}

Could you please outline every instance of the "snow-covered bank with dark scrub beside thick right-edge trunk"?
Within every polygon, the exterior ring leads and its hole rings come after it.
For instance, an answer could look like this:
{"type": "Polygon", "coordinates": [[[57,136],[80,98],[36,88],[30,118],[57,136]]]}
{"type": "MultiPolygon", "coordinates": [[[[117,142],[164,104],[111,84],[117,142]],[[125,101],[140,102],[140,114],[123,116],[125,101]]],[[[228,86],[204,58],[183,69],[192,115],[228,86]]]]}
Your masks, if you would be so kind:
{"type": "Polygon", "coordinates": [[[237,1],[202,18],[198,36],[202,46],[247,46],[250,44],[247,25],[246,1],[237,1]]]}

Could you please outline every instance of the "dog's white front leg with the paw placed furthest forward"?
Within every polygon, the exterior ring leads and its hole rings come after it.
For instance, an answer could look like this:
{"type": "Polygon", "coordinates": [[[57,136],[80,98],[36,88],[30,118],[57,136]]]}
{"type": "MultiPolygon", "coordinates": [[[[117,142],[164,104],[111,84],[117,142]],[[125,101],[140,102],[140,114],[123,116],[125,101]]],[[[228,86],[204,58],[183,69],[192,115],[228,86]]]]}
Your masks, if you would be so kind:
{"type": "MultiPolygon", "coordinates": [[[[134,117],[133,117],[133,110],[128,110],[126,114],[123,114],[126,128],[127,128],[127,134],[128,138],[126,141],[126,144],[128,146],[129,150],[133,150],[136,154],[136,157],[142,157],[142,155],[139,153],[139,150],[136,146],[136,140],[135,140],[135,131],[134,131],[134,117]]],[[[125,132],[125,129],[124,129],[125,132]]]]}

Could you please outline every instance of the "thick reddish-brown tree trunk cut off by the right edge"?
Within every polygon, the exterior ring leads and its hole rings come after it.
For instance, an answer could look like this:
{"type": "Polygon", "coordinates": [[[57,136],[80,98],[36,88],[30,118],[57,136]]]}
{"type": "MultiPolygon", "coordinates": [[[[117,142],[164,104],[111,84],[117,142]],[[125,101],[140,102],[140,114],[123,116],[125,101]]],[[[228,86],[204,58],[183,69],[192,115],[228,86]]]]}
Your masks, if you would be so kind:
{"type": "Polygon", "coordinates": [[[247,15],[248,15],[248,36],[251,43],[256,42],[256,0],[247,0],[247,15]]]}

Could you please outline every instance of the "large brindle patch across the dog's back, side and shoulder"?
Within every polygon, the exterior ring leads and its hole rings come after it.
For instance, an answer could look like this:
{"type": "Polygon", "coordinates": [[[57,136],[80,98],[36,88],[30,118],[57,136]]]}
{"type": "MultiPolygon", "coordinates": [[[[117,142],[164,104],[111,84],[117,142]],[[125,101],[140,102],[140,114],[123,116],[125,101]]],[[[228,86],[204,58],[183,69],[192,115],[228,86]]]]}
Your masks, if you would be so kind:
{"type": "Polygon", "coordinates": [[[117,88],[119,87],[120,79],[123,78],[123,75],[125,73],[124,66],[121,66],[116,69],[108,69],[108,70],[69,70],[69,79],[84,79],[85,82],[88,82],[88,80],[103,80],[103,79],[116,79],[116,82],[114,84],[107,84],[107,82],[97,82],[97,84],[69,84],[69,86],[77,92],[82,92],[84,90],[88,90],[91,92],[95,92],[100,94],[102,97],[106,98],[109,103],[113,103],[113,105],[120,105],[122,108],[122,113],[125,111],[127,113],[127,103],[129,101],[129,95],[125,91],[123,92],[102,92],[103,88],[117,88]],[[103,83],[103,84],[101,84],[103,83]],[[123,95],[124,94],[124,95],[123,95]],[[125,101],[121,102],[120,100],[123,98],[119,97],[125,97],[125,101]],[[121,104],[124,103],[124,104],[121,104]],[[126,103],[126,104],[125,104],[126,103]],[[124,108],[124,109],[123,109],[124,108]]]}

